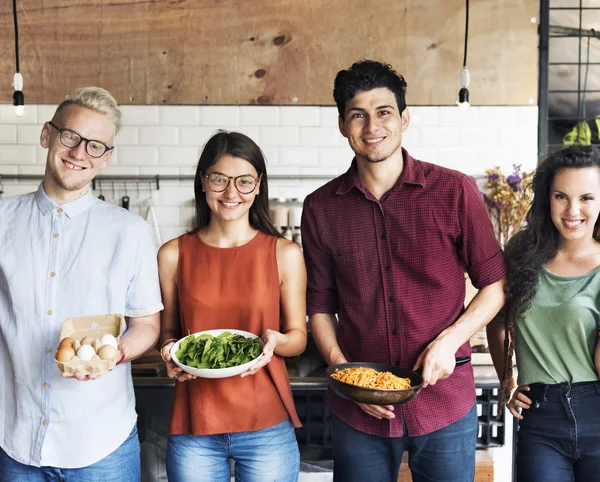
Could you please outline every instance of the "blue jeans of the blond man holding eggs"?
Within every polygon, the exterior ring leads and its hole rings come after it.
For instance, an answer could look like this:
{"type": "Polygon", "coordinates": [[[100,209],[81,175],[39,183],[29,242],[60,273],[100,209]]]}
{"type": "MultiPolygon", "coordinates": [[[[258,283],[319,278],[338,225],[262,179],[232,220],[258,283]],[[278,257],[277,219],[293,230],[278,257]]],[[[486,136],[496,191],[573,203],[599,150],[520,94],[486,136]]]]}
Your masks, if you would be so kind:
{"type": "MultiPolygon", "coordinates": [[[[93,441],[91,442],[93,443],[93,441]]],[[[69,447],[65,447],[69,450],[69,447]]],[[[80,469],[33,467],[11,459],[0,449],[0,482],[139,482],[140,441],[137,426],[117,450],[80,469]]]]}

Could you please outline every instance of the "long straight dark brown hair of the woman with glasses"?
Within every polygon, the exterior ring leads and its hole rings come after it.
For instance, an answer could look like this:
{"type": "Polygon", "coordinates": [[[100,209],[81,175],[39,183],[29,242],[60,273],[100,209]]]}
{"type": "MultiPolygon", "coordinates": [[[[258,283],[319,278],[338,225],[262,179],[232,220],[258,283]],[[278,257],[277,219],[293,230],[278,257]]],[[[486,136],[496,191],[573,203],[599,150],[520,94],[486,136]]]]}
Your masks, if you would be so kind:
{"type": "Polygon", "coordinates": [[[265,234],[283,237],[269,217],[269,188],[267,167],[263,152],[248,136],[240,132],[227,132],[223,130],[217,131],[208,140],[198,160],[196,177],[194,179],[196,226],[190,231],[190,234],[197,233],[204,226],[208,225],[210,221],[211,210],[206,202],[206,194],[202,190],[202,176],[224,155],[240,157],[248,161],[256,169],[258,176],[261,178],[258,195],[250,207],[250,225],[265,234]]]}

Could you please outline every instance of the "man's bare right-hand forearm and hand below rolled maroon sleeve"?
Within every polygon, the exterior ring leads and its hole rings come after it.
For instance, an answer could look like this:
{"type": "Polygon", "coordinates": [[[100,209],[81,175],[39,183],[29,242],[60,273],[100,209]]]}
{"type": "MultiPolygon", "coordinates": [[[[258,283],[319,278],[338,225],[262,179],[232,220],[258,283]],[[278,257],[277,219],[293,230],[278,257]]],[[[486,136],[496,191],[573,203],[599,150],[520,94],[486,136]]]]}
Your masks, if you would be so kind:
{"type": "Polygon", "coordinates": [[[423,367],[424,386],[454,372],[456,351],[489,323],[504,305],[504,280],[480,289],[466,311],[421,353],[413,370],[423,367]]]}

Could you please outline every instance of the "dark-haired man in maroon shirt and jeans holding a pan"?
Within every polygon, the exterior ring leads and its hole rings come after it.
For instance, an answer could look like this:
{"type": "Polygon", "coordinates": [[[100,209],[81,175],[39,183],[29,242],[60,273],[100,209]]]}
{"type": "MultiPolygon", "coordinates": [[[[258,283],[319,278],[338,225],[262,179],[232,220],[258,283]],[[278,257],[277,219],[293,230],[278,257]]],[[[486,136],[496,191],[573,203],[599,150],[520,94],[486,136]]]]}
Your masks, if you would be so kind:
{"type": "Polygon", "coordinates": [[[504,262],[475,182],[401,147],[405,92],[379,62],[337,74],[339,128],[355,158],[304,202],[308,314],[325,361],[422,369],[425,382],[397,406],[330,390],[336,482],[395,482],[404,450],[415,482],[475,473],[473,370],[455,370],[455,357],[470,355],[469,339],[502,307],[504,262]],[[479,288],[466,310],[465,269],[479,288]]]}

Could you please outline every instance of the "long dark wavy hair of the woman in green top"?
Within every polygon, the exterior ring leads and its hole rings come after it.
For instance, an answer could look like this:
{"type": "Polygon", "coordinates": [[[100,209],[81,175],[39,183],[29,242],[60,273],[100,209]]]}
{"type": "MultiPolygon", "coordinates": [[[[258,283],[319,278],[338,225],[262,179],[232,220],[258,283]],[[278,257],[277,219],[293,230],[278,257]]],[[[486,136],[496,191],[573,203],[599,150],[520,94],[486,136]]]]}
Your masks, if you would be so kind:
{"type": "MultiPolygon", "coordinates": [[[[561,169],[600,169],[600,148],[569,146],[542,158],[531,187],[533,202],[527,212],[527,225],[514,235],[505,250],[507,281],[505,305],[504,374],[501,401],[510,398],[509,382],[513,376],[512,357],[516,339],[515,325],[531,308],[537,292],[542,268],[557,254],[560,233],[550,216],[550,189],[556,173],[561,169]]],[[[600,242],[600,217],[594,226],[594,239],[600,242]]]]}

